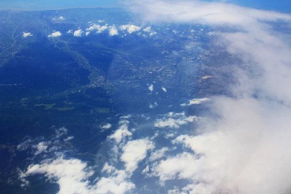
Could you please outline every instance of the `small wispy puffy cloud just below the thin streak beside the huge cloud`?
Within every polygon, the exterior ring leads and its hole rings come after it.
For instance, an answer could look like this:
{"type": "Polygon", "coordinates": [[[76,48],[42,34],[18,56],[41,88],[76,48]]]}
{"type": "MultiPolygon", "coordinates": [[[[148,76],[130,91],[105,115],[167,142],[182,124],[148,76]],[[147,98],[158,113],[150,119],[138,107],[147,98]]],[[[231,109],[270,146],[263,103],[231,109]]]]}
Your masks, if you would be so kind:
{"type": "Polygon", "coordinates": [[[179,128],[180,125],[185,125],[198,120],[197,116],[186,116],[185,113],[168,113],[163,118],[156,119],[155,127],[157,128],[179,128]]]}

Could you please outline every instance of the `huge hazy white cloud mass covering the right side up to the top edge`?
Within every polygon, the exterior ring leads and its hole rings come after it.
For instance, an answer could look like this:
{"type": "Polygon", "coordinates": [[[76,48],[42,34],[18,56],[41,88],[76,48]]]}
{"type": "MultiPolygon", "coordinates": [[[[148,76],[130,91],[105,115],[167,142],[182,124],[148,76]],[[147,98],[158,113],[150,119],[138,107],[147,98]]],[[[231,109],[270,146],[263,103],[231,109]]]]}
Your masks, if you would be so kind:
{"type": "MultiPolygon", "coordinates": [[[[211,97],[212,114],[199,124],[196,135],[173,141],[192,152],[156,162],[152,176],[161,182],[189,181],[169,193],[290,193],[291,154],[286,147],[291,146],[291,91],[282,83],[291,81],[291,49],[286,35],[273,30],[272,22],[290,23],[291,15],[199,0],[141,0],[133,5],[130,9],[146,21],[235,29],[215,32],[216,44],[251,64],[234,74],[238,84],[230,86],[233,98],[211,97]],[[260,74],[254,74],[258,69],[260,74]]],[[[192,102],[196,103],[201,101],[192,102]]]]}

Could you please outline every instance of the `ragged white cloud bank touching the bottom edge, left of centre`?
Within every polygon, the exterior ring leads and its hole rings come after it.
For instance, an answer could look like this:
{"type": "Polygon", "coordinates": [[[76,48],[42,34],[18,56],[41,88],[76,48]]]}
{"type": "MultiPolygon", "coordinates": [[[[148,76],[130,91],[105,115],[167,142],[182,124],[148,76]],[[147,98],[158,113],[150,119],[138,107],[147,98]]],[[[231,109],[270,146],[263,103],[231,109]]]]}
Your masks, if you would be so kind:
{"type": "Polygon", "coordinates": [[[19,179],[23,182],[22,186],[27,186],[27,177],[43,174],[49,181],[59,185],[58,194],[125,194],[135,187],[127,181],[128,175],[125,171],[116,170],[107,163],[102,171],[109,176],[91,184],[89,179],[94,171],[87,163],[79,159],[66,160],[64,155],[61,155],[55,160],[44,160],[40,164],[30,165],[25,172],[20,172],[19,179]]]}

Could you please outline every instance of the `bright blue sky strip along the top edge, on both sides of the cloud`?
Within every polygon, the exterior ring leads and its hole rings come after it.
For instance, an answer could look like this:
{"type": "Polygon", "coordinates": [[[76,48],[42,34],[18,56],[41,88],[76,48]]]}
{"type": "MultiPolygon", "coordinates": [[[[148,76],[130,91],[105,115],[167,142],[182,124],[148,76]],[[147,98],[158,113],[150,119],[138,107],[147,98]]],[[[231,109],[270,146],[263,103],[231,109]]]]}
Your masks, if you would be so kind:
{"type": "MultiPolygon", "coordinates": [[[[119,0],[1,0],[0,9],[44,10],[70,7],[118,7],[119,0]]],[[[227,2],[291,13],[291,0],[228,0],[227,2]]]]}

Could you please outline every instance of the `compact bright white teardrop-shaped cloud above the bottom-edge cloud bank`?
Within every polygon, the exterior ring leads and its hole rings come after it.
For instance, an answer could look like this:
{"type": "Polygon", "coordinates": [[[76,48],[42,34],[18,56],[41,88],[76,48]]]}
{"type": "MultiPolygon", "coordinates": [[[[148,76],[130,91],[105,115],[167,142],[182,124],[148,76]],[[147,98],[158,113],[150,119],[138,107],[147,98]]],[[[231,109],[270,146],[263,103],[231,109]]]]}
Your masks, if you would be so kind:
{"type": "Polygon", "coordinates": [[[148,139],[132,140],[122,147],[120,159],[125,162],[126,170],[132,173],[137,169],[138,163],[146,158],[147,151],[154,148],[154,143],[148,139]]]}

